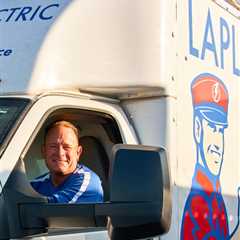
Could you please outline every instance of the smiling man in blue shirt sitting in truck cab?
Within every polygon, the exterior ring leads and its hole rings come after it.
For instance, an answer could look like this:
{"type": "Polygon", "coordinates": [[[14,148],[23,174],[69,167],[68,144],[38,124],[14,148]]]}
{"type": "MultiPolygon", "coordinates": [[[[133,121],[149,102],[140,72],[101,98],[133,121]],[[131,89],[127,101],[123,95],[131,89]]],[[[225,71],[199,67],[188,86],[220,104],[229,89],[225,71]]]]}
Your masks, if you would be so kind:
{"type": "Polygon", "coordinates": [[[78,164],[82,153],[79,131],[70,122],[58,121],[46,128],[42,154],[48,173],[31,182],[50,203],[102,202],[100,178],[78,164]]]}

